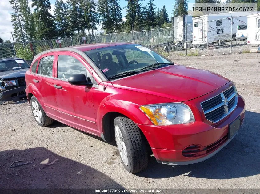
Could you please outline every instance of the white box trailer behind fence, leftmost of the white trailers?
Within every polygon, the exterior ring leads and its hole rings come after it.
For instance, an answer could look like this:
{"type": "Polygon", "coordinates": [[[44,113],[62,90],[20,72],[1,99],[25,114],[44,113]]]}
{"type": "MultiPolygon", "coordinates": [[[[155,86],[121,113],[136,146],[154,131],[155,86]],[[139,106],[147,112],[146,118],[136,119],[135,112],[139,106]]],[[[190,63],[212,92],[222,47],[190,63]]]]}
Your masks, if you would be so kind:
{"type": "Polygon", "coordinates": [[[186,42],[192,42],[192,16],[183,15],[174,17],[174,41],[175,47],[177,51],[181,51],[184,47],[186,47],[186,42]],[[190,24],[190,25],[189,25],[190,24]]]}

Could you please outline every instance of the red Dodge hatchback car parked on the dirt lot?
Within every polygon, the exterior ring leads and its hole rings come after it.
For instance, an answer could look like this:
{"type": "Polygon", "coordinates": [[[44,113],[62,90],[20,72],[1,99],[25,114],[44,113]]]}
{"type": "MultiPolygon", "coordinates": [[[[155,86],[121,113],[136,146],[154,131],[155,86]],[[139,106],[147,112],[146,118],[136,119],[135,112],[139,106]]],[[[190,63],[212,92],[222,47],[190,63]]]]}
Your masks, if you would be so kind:
{"type": "Polygon", "coordinates": [[[150,150],[162,164],[204,161],[244,120],[245,101],[232,81],[135,43],[48,50],[34,57],[25,78],[40,126],[57,120],[115,139],[130,173],[147,167],[150,150]]]}

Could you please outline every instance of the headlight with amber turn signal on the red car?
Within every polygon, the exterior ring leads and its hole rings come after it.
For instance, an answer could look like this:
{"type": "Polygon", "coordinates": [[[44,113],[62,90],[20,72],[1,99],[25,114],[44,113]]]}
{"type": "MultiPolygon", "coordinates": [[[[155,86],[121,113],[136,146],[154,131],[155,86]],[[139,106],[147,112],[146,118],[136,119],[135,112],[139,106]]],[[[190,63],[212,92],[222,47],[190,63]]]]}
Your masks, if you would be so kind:
{"type": "Polygon", "coordinates": [[[182,124],[195,121],[190,108],[183,103],[144,105],[139,108],[154,125],[182,124]]]}

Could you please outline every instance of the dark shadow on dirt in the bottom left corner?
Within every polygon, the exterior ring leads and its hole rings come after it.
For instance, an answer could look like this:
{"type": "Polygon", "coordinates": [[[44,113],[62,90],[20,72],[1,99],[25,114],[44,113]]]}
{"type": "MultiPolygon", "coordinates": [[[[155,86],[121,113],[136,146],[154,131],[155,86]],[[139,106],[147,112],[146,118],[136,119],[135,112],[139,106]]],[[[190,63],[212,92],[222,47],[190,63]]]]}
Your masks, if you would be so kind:
{"type": "MultiPolygon", "coordinates": [[[[0,152],[0,188],[120,188],[110,177],[44,147],[0,152]],[[34,163],[10,168],[14,161],[34,163]],[[54,164],[49,162],[58,159],[54,164]],[[42,164],[40,164],[42,163],[42,164]]],[[[19,164],[14,163],[15,164],[19,164]]]]}

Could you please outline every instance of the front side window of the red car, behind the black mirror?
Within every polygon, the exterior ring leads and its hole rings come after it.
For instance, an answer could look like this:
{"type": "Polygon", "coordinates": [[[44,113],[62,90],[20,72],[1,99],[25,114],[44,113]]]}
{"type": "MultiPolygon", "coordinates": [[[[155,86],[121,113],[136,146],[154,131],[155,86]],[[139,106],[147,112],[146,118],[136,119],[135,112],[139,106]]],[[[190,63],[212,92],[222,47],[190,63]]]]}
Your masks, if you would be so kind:
{"type": "Polygon", "coordinates": [[[59,55],[57,74],[58,78],[66,80],[75,74],[85,74],[87,77],[87,69],[78,59],[69,55],[59,55]]]}

